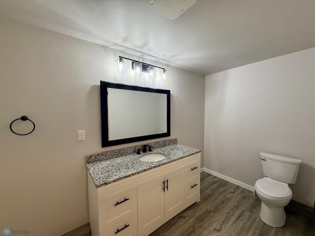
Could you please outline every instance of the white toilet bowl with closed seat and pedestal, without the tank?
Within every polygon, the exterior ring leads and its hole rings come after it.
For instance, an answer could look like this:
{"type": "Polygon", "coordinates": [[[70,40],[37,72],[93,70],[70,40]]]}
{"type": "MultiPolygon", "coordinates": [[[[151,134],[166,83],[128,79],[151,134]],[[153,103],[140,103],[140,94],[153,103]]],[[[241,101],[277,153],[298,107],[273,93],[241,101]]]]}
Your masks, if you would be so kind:
{"type": "Polygon", "coordinates": [[[255,194],[261,200],[259,216],[267,225],[282,227],[285,224],[284,207],[292,198],[292,191],[286,183],[264,177],[254,185],[255,194]]]}

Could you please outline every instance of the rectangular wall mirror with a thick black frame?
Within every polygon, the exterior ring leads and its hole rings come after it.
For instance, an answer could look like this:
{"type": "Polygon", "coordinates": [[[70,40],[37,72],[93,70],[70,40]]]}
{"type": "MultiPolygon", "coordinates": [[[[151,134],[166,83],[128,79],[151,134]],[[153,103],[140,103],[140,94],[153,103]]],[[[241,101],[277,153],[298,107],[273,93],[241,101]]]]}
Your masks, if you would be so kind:
{"type": "Polygon", "coordinates": [[[102,147],[170,136],[170,90],[100,82],[102,147]]]}

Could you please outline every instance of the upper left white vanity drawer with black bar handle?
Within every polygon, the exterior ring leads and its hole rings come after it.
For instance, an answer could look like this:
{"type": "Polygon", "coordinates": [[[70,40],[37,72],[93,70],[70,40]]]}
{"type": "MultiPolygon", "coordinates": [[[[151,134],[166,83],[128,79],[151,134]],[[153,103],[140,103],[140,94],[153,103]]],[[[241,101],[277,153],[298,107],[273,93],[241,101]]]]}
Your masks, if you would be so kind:
{"type": "Polygon", "coordinates": [[[137,190],[124,193],[98,205],[99,232],[113,227],[137,213],[137,190]]]}

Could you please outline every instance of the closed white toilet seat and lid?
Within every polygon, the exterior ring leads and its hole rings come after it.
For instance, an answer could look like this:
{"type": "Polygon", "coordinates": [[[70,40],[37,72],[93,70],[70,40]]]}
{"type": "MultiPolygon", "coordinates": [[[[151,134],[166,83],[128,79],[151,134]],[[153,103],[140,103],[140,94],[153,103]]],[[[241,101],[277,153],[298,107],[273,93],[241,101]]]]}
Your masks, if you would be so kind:
{"type": "Polygon", "coordinates": [[[255,183],[255,189],[267,198],[274,200],[286,200],[292,197],[292,190],[287,183],[263,177],[255,183]]]}

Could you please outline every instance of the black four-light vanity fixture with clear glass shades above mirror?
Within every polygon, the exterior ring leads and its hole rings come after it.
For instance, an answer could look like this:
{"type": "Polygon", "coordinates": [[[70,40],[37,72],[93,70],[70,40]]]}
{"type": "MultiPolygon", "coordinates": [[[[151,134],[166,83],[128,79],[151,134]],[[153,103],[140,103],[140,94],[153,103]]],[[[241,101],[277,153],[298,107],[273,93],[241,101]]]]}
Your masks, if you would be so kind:
{"type": "Polygon", "coordinates": [[[135,71],[135,76],[136,78],[141,77],[142,72],[148,73],[148,78],[150,80],[153,80],[156,76],[156,70],[157,68],[160,69],[160,79],[161,82],[164,82],[166,80],[167,76],[167,70],[165,68],[155,66],[155,65],[150,65],[147,63],[143,63],[137,60],[129,59],[129,58],[124,58],[119,56],[116,60],[116,66],[117,66],[117,73],[118,74],[124,74],[125,73],[125,60],[131,60],[131,69],[135,71]]]}

